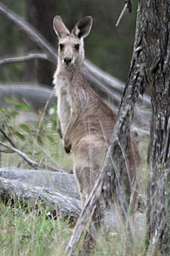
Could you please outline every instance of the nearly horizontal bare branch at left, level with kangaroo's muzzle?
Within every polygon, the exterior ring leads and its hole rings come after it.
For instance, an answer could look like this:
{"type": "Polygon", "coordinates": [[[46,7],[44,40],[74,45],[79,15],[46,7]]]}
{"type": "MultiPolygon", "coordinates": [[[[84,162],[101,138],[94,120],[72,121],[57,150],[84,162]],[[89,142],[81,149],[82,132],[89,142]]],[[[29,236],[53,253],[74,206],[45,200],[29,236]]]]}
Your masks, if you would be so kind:
{"type": "Polygon", "coordinates": [[[9,57],[0,60],[0,65],[8,64],[8,63],[15,63],[15,62],[23,62],[23,61],[30,61],[32,59],[41,58],[43,60],[48,60],[48,56],[42,53],[29,53],[25,56],[20,57],[9,57]]]}

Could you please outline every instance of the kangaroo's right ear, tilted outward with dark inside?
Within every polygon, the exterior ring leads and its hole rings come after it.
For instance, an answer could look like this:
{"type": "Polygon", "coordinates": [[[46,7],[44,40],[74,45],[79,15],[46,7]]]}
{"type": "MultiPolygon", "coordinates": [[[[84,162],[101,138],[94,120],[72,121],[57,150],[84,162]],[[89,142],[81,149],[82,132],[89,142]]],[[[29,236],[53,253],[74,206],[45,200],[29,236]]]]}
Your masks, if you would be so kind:
{"type": "Polygon", "coordinates": [[[85,38],[91,31],[93,19],[91,16],[84,17],[82,20],[79,20],[76,23],[75,27],[72,30],[72,33],[81,38],[85,38]]]}

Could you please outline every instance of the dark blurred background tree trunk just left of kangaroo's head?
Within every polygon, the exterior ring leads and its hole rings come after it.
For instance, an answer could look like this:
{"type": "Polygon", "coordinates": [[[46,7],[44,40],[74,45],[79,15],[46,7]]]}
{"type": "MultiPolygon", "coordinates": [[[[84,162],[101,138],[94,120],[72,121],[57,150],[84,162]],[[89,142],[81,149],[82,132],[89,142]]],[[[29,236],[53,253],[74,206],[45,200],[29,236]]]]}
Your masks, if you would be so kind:
{"type": "MultiPolygon", "coordinates": [[[[51,43],[51,45],[56,44],[56,36],[54,34],[53,28],[51,26],[52,20],[56,14],[57,3],[53,0],[48,0],[48,5],[46,0],[29,0],[27,2],[27,17],[29,23],[33,27],[36,27],[40,33],[51,43]]],[[[32,49],[37,48],[35,44],[31,44],[32,49]]],[[[30,47],[30,46],[29,46],[30,47]]],[[[30,48],[29,48],[30,52],[30,48]]],[[[36,80],[40,84],[45,84],[47,86],[52,86],[54,65],[49,63],[47,60],[37,60],[32,61],[32,65],[28,64],[28,70],[31,72],[36,70],[36,80]],[[36,68],[35,68],[36,64],[36,68]]]]}

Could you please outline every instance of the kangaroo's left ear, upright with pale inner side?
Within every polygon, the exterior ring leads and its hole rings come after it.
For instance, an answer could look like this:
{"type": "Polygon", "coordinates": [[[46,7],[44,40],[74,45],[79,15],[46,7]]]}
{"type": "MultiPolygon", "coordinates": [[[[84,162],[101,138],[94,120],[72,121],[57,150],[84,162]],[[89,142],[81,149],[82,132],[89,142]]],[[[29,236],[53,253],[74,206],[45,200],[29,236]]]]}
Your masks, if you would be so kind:
{"type": "Polygon", "coordinates": [[[60,16],[54,17],[53,27],[58,37],[70,36],[70,31],[66,28],[60,16]]]}

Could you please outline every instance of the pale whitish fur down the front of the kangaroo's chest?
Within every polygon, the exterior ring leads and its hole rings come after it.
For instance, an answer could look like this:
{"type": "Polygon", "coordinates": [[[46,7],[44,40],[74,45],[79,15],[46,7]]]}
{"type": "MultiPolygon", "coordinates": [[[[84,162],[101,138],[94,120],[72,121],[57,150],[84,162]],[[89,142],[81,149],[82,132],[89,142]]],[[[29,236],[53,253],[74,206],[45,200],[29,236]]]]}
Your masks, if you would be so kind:
{"type": "Polygon", "coordinates": [[[60,120],[60,128],[62,135],[66,131],[66,126],[70,120],[70,84],[69,80],[57,75],[54,75],[54,89],[57,96],[57,115],[60,120]]]}

